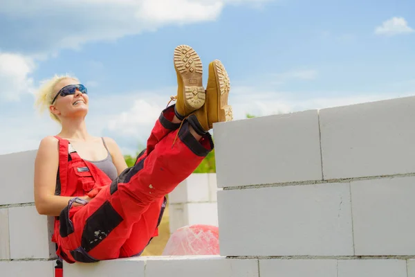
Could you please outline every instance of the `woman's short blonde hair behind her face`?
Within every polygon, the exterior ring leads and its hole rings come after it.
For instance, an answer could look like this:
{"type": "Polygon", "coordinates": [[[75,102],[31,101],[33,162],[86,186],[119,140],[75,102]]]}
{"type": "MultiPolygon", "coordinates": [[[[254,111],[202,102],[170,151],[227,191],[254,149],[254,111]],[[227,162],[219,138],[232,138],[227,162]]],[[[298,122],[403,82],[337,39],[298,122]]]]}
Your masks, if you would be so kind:
{"type": "Polygon", "coordinates": [[[41,113],[43,113],[46,109],[48,109],[50,118],[52,118],[59,124],[61,123],[59,118],[55,114],[50,112],[49,106],[52,105],[52,100],[56,94],[56,92],[53,91],[53,89],[55,89],[55,85],[65,79],[73,79],[79,82],[79,80],[75,76],[71,76],[68,74],[55,75],[53,76],[53,78],[44,80],[44,82],[42,82],[43,84],[37,91],[37,99],[35,101],[35,106],[38,107],[41,113]]]}

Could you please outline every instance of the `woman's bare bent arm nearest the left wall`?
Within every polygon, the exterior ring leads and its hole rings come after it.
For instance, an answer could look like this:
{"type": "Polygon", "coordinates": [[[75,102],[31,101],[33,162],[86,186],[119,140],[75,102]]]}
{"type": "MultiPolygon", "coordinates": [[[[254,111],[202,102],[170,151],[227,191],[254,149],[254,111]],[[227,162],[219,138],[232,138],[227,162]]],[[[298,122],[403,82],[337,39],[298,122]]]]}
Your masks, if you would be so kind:
{"type": "Polygon", "coordinates": [[[58,166],[59,142],[53,136],[46,136],[40,142],[35,159],[35,206],[41,215],[59,216],[73,198],[55,195],[58,166]]]}

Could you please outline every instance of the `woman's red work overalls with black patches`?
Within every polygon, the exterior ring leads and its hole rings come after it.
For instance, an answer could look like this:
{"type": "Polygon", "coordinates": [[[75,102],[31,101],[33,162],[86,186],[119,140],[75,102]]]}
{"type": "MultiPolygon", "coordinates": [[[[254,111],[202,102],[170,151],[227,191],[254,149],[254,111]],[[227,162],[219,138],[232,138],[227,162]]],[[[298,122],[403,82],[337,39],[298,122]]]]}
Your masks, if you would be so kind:
{"type": "Polygon", "coordinates": [[[73,199],[55,220],[53,242],[66,262],[139,256],[157,235],[165,195],[213,149],[210,134],[196,141],[189,125],[172,123],[174,105],[161,114],[135,166],[111,182],[93,163],[59,139],[57,195],[73,199]],[[94,196],[84,203],[79,196],[94,196]],[[73,206],[77,202],[82,205],[73,206]]]}

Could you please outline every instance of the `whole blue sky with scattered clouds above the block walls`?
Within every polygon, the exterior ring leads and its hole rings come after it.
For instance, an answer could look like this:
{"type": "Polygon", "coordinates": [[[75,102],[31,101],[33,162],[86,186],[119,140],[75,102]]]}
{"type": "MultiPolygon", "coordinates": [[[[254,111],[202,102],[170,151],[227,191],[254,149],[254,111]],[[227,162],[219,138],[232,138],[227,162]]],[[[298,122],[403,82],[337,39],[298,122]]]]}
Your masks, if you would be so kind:
{"type": "Polygon", "coordinates": [[[236,119],[415,95],[410,0],[21,2],[0,4],[0,154],[59,132],[33,108],[55,73],[89,88],[91,134],[136,152],[176,93],[179,44],[205,72],[223,62],[236,119]]]}

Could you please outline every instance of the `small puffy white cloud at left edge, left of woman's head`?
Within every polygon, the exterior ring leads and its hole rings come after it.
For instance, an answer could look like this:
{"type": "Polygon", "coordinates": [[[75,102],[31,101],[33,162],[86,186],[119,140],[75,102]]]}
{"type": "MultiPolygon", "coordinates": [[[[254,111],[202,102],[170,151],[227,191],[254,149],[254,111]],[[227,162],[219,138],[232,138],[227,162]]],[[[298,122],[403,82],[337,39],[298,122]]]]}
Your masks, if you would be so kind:
{"type": "Polygon", "coordinates": [[[33,93],[30,73],[35,64],[30,57],[0,53],[0,100],[19,100],[24,93],[33,93]]]}

